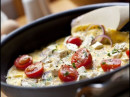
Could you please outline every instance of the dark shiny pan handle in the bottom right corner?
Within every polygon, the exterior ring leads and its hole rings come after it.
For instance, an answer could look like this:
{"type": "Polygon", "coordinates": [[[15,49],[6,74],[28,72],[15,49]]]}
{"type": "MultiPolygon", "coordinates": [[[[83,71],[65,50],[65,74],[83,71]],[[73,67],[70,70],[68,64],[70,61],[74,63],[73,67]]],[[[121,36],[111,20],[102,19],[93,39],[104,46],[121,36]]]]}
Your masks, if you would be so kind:
{"type": "Polygon", "coordinates": [[[114,97],[129,89],[129,67],[115,73],[109,81],[77,89],[76,97],[114,97]]]}

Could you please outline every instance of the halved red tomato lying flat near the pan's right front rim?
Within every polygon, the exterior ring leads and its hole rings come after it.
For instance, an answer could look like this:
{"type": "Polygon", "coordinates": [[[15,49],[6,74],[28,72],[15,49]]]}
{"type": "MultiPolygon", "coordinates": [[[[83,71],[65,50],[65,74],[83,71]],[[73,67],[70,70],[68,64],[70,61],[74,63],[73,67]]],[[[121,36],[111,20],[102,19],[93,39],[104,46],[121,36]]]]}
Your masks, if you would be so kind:
{"type": "Polygon", "coordinates": [[[101,62],[101,67],[104,70],[104,72],[110,71],[111,69],[116,69],[120,66],[120,59],[106,59],[101,62]]]}

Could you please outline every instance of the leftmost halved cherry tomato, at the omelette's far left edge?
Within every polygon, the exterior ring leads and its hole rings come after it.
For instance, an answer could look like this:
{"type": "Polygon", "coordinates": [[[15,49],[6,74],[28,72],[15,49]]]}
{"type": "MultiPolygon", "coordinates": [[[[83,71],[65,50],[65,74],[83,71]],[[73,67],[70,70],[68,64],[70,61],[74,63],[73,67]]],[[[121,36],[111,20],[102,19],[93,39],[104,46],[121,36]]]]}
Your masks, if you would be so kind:
{"type": "Polygon", "coordinates": [[[33,61],[32,61],[31,56],[22,55],[15,60],[14,65],[16,66],[17,69],[24,70],[26,67],[28,67],[32,63],[33,61]]]}

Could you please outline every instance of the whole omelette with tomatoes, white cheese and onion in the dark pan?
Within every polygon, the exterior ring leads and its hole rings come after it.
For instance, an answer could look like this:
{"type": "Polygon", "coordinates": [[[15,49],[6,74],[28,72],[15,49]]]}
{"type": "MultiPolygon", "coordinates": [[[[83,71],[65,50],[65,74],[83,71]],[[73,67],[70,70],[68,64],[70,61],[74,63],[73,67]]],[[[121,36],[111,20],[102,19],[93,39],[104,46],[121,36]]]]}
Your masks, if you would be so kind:
{"type": "Polygon", "coordinates": [[[111,72],[129,63],[129,32],[103,25],[80,25],[71,35],[19,56],[7,73],[7,84],[57,86],[111,72]]]}

